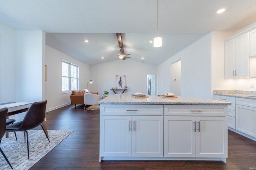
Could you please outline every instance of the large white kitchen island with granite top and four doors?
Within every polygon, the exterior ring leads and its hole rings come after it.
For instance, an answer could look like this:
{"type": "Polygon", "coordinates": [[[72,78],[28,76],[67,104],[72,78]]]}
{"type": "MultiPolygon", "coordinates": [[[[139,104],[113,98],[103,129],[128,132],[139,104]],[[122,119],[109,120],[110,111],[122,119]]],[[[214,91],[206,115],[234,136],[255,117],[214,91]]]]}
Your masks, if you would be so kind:
{"type": "Polygon", "coordinates": [[[98,103],[100,161],[226,162],[229,102],[188,96],[108,96],[98,103]]]}

